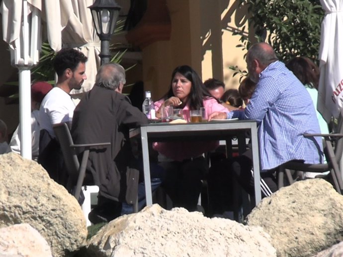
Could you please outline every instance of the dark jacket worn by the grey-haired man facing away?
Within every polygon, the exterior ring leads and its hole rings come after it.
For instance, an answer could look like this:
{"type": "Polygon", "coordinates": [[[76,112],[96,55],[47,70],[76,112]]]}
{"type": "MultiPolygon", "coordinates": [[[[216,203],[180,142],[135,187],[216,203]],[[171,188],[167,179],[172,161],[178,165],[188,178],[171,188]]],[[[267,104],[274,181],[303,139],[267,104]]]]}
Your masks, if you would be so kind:
{"type": "Polygon", "coordinates": [[[130,204],[135,201],[139,172],[131,151],[129,129],[147,122],[127,96],[98,86],[88,91],[75,108],[75,144],[111,143],[89,153],[87,171],[99,186],[99,195],[130,204]]]}

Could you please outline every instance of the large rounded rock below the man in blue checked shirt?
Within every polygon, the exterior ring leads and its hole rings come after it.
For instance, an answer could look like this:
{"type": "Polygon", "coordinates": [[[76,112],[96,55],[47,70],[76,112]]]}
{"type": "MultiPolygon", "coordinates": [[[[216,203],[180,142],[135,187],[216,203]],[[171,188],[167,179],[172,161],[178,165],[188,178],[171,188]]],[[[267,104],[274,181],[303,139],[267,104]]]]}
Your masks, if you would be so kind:
{"type": "Polygon", "coordinates": [[[247,217],[278,257],[307,257],[343,240],[343,196],[324,179],[295,182],[264,198],[247,217]]]}

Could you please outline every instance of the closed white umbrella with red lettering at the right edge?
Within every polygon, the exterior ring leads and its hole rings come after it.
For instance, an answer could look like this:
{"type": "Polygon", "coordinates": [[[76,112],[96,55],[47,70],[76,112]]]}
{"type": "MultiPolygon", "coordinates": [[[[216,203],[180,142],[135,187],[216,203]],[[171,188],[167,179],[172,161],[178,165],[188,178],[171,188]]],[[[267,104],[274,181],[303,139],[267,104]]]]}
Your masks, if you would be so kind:
{"type": "Polygon", "coordinates": [[[325,16],[319,50],[320,80],[317,109],[329,122],[343,106],[343,0],[321,0],[325,16]]]}

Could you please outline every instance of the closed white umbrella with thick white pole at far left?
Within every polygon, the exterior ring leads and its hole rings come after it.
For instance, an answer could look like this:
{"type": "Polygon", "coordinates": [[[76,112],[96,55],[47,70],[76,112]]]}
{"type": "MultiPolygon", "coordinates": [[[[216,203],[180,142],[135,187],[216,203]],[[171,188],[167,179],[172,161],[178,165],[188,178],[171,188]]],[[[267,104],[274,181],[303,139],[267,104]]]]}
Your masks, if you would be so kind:
{"type": "Polygon", "coordinates": [[[9,44],[11,64],[19,71],[21,156],[32,158],[31,71],[39,61],[41,0],[2,0],[3,40],[9,44]]]}

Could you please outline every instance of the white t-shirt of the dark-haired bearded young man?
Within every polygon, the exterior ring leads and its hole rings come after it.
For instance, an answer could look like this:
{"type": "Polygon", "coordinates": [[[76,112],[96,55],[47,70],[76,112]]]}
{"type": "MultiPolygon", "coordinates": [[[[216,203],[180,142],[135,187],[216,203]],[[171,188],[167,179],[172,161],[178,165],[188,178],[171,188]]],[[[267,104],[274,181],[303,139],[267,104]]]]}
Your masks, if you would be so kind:
{"type": "Polygon", "coordinates": [[[52,137],[55,137],[53,124],[72,122],[75,104],[71,96],[59,87],[51,89],[45,95],[40,108],[40,129],[46,129],[52,137]]]}

